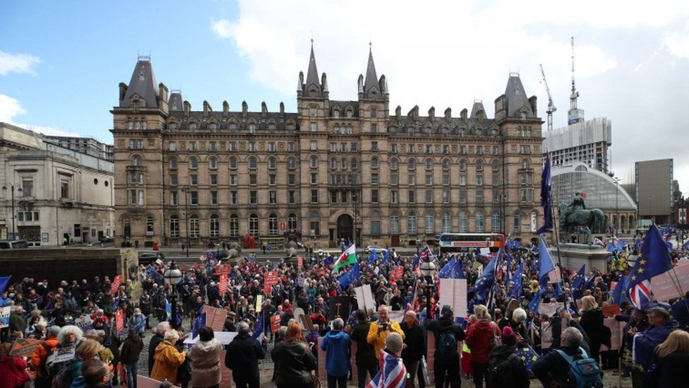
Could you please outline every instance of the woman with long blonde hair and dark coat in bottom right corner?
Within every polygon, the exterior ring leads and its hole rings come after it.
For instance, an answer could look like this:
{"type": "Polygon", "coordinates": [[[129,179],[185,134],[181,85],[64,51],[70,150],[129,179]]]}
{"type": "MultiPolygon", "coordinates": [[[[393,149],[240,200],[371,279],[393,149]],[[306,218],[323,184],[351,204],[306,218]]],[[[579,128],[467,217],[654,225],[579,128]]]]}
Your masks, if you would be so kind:
{"type": "Polygon", "coordinates": [[[689,381],[689,333],[675,330],[653,352],[648,388],[682,387],[689,381]]]}

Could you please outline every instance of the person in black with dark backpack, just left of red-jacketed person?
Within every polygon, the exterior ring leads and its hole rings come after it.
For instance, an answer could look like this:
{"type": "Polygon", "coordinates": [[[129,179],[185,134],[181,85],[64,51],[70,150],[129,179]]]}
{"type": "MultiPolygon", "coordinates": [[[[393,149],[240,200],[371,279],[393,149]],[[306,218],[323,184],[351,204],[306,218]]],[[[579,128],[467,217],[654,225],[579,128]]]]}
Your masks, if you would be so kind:
{"type": "Polygon", "coordinates": [[[444,387],[445,374],[448,375],[451,388],[460,387],[460,354],[457,353],[457,341],[464,341],[466,335],[464,329],[455,323],[452,307],[443,306],[441,317],[437,321],[426,319],[424,325],[433,332],[436,339],[433,363],[436,388],[444,387]]]}

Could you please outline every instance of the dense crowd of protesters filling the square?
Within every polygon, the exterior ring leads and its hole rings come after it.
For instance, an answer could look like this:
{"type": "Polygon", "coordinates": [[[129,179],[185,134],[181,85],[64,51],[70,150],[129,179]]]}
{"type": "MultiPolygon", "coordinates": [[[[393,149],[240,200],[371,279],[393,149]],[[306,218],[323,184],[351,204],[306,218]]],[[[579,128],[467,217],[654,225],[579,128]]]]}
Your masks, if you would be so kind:
{"type": "MultiPolygon", "coordinates": [[[[675,251],[673,260],[684,255],[675,251]]],[[[689,293],[644,310],[619,301],[614,318],[625,322],[621,347],[601,351],[601,346],[611,348],[601,307],[613,304],[613,282],[630,270],[627,253],[611,256],[606,269],[587,269],[580,286],[575,286],[577,269],[558,266],[562,281],[542,287],[538,252],[513,249],[510,259],[494,269],[487,297],[472,292],[495,257],[464,252],[434,259],[438,269],[448,263],[462,268],[469,285],[468,312],[440,305],[438,272],[424,278],[419,259],[397,254],[359,257],[359,276],[344,288],[338,281],[344,271],[333,273],[332,258],[320,255],[300,261],[243,260],[232,267],[226,285],[204,261],[182,267],[181,282],[174,288],[179,302],[170,298],[172,286],[163,278],[167,264],[141,266],[138,281],[124,281],[116,289],[109,276],[65,280],[58,287],[24,278],[10,283],[0,296],[0,307],[11,310],[7,327],[0,330],[0,388],[27,383],[136,387],[136,375],[145,373],[138,368],[142,364],[152,379],[185,387],[218,387],[223,368],[232,370],[238,387],[259,387],[268,382],[261,380],[259,363],[270,360],[270,381],[277,387],[313,387],[314,382],[345,387],[352,377],[353,343],[359,387],[426,387],[431,380],[436,387],[459,387],[462,374],[478,388],[528,387],[533,378],[544,387],[565,387],[573,379],[597,381],[593,375],[576,375],[573,365],[593,369],[599,381],[603,370],[617,368],[619,359],[625,375],[642,371],[652,387],[689,381],[686,322],[671,314],[676,309],[670,307],[687,305],[689,293]],[[402,276],[392,278],[397,268],[402,276]],[[521,275],[515,281],[517,271],[521,275]],[[264,283],[268,272],[277,273],[270,286],[264,283]],[[357,300],[354,288],[361,285],[371,287],[375,310],[365,310],[357,300]],[[429,288],[431,299],[426,300],[429,288]],[[337,316],[330,300],[342,296],[349,299],[352,313],[337,316]],[[259,299],[263,302],[257,305],[259,299]],[[551,302],[561,305],[550,316],[539,314],[539,303],[551,302]],[[206,305],[227,310],[223,330],[237,333],[229,344],[215,339],[210,327],[198,329],[193,345],[184,341],[188,332],[172,329],[171,316],[179,317],[175,327],[188,327],[206,305]],[[124,314],[120,330],[117,313],[124,314]],[[313,327],[304,327],[299,314],[307,314],[313,327]],[[270,321],[276,316],[280,329],[273,333],[270,321]],[[549,348],[541,346],[545,326],[551,327],[549,348]],[[149,330],[147,344],[143,339],[149,330]],[[429,336],[435,340],[433,355],[428,354],[429,336]],[[17,339],[42,342],[30,355],[12,355],[17,339]],[[148,360],[140,360],[147,346],[148,360]],[[533,362],[518,355],[525,347],[535,352],[533,362]],[[325,358],[326,373],[316,377],[318,358],[325,358]]]]}

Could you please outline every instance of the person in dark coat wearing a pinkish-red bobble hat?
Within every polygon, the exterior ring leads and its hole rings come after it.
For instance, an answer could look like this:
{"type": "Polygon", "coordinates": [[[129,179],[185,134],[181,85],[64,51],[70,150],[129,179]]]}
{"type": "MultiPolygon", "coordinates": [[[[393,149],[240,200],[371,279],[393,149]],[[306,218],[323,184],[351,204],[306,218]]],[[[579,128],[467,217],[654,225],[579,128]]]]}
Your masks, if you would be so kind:
{"type": "Polygon", "coordinates": [[[503,327],[500,341],[501,345],[493,348],[489,355],[486,387],[528,388],[529,374],[522,359],[515,353],[517,336],[508,325],[503,327]]]}

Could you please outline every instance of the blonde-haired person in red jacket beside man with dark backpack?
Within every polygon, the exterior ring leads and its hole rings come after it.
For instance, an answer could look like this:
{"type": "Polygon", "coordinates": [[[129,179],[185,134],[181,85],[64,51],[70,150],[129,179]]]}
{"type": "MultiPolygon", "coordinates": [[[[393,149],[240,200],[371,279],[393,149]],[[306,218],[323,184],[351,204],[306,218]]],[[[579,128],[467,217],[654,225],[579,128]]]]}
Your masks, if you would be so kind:
{"type": "Polygon", "coordinates": [[[493,343],[499,341],[500,328],[491,321],[491,315],[484,305],[474,306],[477,322],[467,328],[467,346],[472,351],[472,369],[474,370],[474,385],[483,388],[487,379],[489,354],[493,343]]]}

